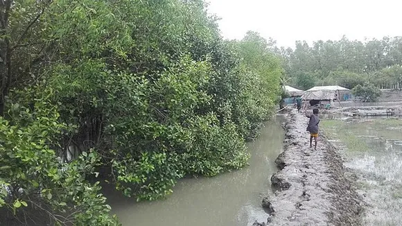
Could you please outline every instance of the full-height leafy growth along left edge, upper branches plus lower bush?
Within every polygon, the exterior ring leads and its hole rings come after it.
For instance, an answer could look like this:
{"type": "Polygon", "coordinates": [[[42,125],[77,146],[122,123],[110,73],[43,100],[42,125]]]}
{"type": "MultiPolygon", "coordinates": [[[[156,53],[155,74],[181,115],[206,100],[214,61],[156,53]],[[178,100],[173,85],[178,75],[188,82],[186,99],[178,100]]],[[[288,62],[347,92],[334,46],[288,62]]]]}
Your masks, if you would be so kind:
{"type": "MultiPolygon", "coordinates": [[[[59,6],[68,8],[65,3],[59,6]]],[[[98,183],[87,181],[100,156],[87,150],[62,161],[60,139],[71,128],[50,98],[54,89],[42,80],[59,56],[45,22],[53,6],[0,1],[0,224],[12,216],[28,224],[118,225],[98,183]]]]}

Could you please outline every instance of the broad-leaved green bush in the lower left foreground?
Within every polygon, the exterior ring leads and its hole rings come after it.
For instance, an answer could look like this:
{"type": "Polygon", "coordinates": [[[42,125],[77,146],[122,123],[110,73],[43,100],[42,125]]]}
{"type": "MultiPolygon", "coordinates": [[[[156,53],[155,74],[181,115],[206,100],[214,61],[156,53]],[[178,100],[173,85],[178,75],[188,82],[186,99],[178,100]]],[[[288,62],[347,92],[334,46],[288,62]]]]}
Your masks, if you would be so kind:
{"type": "MultiPolygon", "coordinates": [[[[108,216],[110,207],[105,198],[98,193],[98,182],[85,180],[86,175],[95,173],[99,155],[88,150],[78,159],[62,162],[55,151],[60,144],[55,141],[69,130],[60,123],[58,108],[46,101],[49,93],[24,89],[13,94],[15,103],[8,103],[9,119],[0,118],[1,216],[11,215],[11,211],[21,220],[29,216],[37,225],[116,225],[116,219],[108,216]],[[32,105],[25,107],[24,102],[34,93],[32,105]],[[53,214],[47,214],[53,209],[53,214]]],[[[1,224],[10,225],[2,220],[1,224]]]]}

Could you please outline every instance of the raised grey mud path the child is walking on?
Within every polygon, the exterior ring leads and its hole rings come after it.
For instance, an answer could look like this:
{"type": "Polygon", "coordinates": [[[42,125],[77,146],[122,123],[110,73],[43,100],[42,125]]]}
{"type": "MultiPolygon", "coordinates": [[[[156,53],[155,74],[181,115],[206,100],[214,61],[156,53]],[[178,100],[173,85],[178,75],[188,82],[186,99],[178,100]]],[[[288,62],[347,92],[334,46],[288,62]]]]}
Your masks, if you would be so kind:
{"type": "Polygon", "coordinates": [[[263,200],[268,225],[361,225],[361,199],[337,150],[321,134],[317,150],[309,148],[308,118],[295,110],[288,118],[280,170],[271,177],[278,190],[263,200]]]}

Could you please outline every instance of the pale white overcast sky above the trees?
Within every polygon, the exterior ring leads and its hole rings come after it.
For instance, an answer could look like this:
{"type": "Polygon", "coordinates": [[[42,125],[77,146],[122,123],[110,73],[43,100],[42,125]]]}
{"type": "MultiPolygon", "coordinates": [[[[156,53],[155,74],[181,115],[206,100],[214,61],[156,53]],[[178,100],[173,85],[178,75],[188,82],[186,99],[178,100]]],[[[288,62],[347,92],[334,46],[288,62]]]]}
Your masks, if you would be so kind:
{"type": "Polygon", "coordinates": [[[350,40],[402,36],[398,0],[207,0],[221,18],[222,35],[241,39],[249,30],[272,37],[279,46],[296,40],[350,40]]]}

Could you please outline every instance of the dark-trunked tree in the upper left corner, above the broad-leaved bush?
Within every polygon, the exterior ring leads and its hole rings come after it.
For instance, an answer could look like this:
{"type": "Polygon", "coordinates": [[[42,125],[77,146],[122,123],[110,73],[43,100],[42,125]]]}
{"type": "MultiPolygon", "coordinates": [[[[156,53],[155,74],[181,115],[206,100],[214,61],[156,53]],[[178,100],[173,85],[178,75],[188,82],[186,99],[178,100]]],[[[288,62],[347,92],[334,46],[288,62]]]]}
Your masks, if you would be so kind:
{"type": "Polygon", "coordinates": [[[6,97],[13,87],[24,85],[36,76],[35,66],[51,46],[38,31],[40,20],[51,1],[3,0],[0,2],[0,116],[4,115],[6,97]]]}

